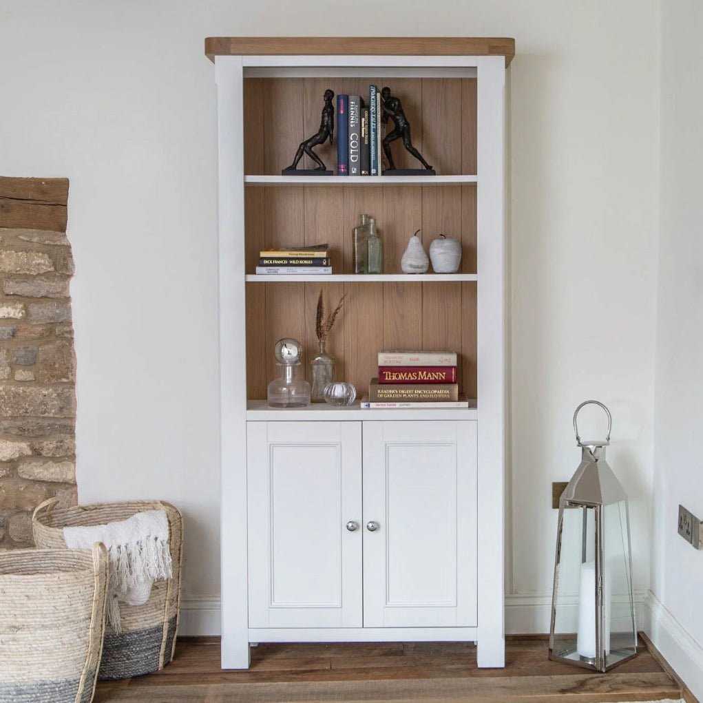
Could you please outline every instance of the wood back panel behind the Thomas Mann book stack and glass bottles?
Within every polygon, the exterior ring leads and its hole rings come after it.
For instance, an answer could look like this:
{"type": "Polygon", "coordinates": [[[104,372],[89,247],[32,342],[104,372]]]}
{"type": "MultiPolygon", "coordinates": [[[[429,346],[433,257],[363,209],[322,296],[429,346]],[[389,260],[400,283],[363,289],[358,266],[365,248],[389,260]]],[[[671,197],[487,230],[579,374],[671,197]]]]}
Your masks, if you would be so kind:
{"type": "Polygon", "coordinates": [[[476,397],[476,283],[247,283],[250,400],[265,399],[266,385],[280,375],[273,347],[281,337],[302,342],[298,373],[311,380],[321,288],[328,311],[347,295],[328,352],[337,380],[352,382],[359,396],[377,375],[381,349],[446,349],[460,354],[460,388],[476,397]]]}

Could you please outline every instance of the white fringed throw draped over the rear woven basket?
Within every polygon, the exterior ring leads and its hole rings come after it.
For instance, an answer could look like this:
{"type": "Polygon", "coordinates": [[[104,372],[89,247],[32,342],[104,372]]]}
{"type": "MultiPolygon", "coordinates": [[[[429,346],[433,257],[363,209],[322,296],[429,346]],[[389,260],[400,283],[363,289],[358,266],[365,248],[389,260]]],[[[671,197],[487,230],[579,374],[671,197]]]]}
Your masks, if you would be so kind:
{"type": "Polygon", "coordinates": [[[118,601],[144,605],[154,581],[172,576],[169,521],[163,510],[93,527],[64,527],[63,538],[69,549],[91,549],[96,542],[108,548],[107,620],[117,633],[122,631],[118,601]]]}

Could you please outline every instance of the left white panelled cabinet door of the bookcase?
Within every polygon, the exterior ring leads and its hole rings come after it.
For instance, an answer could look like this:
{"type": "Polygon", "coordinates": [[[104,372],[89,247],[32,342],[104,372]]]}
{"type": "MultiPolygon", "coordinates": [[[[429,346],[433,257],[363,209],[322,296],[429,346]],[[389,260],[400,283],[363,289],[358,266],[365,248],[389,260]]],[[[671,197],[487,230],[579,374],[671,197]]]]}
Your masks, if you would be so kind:
{"type": "Polygon", "coordinates": [[[247,483],[249,626],[361,627],[361,423],[247,423],[247,483]]]}

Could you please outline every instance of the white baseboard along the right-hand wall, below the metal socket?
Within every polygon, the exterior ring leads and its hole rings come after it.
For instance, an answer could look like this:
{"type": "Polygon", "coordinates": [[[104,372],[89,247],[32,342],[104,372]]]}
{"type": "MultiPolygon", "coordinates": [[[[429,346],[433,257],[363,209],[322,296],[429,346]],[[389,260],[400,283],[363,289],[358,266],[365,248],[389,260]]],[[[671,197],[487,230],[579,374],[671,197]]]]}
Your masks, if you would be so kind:
{"type": "Polygon", "coordinates": [[[645,605],[649,614],[645,631],[652,644],[692,694],[703,700],[703,647],[651,591],[645,605]]]}

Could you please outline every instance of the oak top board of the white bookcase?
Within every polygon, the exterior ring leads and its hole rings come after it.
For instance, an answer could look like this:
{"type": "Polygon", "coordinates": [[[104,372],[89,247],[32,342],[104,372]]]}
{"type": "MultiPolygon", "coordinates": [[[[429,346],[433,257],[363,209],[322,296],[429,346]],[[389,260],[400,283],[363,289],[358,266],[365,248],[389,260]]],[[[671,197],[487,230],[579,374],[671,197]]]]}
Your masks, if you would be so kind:
{"type": "Polygon", "coordinates": [[[505,37],[207,37],[215,56],[515,56],[505,37]]]}

